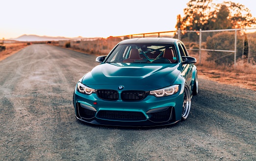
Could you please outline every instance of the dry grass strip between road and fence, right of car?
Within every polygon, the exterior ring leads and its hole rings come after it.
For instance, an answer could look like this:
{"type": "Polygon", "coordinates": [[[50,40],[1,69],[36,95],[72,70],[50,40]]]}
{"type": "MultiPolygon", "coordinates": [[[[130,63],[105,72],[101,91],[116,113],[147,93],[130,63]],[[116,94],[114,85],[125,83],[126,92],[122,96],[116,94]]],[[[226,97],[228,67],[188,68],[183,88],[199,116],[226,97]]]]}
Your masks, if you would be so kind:
{"type": "Polygon", "coordinates": [[[241,88],[256,91],[256,65],[239,61],[234,66],[216,65],[214,62],[206,61],[207,53],[201,53],[201,65],[199,64],[199,53],[191,53],[191,57],[197,59],[198,77],[229,84],[241,88]]]}

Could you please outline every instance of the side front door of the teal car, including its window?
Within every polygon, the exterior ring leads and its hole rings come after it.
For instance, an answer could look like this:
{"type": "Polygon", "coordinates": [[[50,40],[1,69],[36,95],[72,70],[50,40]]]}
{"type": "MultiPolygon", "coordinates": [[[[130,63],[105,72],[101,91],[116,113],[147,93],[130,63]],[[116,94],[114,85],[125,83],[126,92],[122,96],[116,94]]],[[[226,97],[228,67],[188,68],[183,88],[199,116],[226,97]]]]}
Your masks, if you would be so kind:
{"type": "MultiPolygon", "coordinates": [[[[181,57],[189,56],[187,53],[187,49],[182,42],[179,42],[178,46],[179,46],[179,52],[180,52],[181,57]]],[[[183,60],[181,59],[181,61],[183,61],[183,60]]],[[[181,75],[185,78],[190,91],[192,90],[191,89],[191,87],[192,87],[192,85],[191,85],[192,67],[193,67],[193,64],[181,64],[181,75]]]]}

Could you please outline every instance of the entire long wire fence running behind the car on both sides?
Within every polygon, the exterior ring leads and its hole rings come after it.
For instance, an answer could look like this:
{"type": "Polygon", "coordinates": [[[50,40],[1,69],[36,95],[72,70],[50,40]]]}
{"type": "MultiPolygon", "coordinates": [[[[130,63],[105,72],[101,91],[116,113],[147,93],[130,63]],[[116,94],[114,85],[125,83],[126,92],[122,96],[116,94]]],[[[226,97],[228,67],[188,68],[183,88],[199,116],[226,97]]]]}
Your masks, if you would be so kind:
{"type": "MultiPolygon", "coordinates": [[[[208,67],[225,66],[233,69],[256,70],[256,28],[207,31],[165,31],[119,37],[87,38],[71,41],[71,47],[85,52],[107,55],[121,40],[132,38],[176,38],[181,40],[199,64],[208,67]]],[[[61,42],[63,45],[65,42],[61,42]]]]}

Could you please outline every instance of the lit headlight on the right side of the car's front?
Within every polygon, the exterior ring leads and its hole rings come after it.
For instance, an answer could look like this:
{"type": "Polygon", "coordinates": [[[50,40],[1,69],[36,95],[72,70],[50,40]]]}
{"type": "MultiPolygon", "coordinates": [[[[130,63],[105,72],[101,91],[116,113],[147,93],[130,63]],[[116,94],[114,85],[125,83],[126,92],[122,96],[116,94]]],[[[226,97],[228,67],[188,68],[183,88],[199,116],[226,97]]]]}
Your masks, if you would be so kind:
{"type": "Polygon", "coordinates": [[[172,85],[170,87],[158,89],[155,91],[150,91],[150,94],[154,95],[155,97],[164,97],[164,96],[174,95],[178,91],[179,91],[179,85],[172,85]]]}

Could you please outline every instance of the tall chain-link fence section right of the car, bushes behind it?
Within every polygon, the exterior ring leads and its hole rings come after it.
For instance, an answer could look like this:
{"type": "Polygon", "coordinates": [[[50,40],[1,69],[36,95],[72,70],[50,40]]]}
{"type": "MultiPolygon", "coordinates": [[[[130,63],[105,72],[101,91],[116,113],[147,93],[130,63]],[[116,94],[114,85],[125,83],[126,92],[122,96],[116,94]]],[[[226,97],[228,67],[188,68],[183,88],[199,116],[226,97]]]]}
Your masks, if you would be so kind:
{"type": "Polygon", "coordinates": [[[256,29],[178,31],[191,56],[208,67],[256,69],[256,29]]]}

